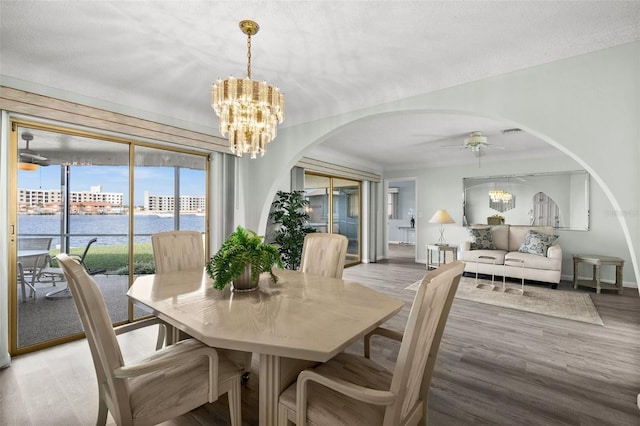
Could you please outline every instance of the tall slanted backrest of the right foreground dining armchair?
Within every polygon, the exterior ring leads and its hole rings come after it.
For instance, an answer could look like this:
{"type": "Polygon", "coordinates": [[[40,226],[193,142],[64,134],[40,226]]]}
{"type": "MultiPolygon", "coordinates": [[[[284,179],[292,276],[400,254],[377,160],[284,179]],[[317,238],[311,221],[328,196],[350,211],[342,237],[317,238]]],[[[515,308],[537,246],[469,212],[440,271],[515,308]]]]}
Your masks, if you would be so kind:
{"type": "MultiPolygon", "coordinates": [[[[385,425],[402,424],[420,399],[427,403],[425,387],[428,389],[431,382],[442,331],[463,272],[464,262],[455,261],[422,279],[398,352],[391,381],[391,391],[397,398],[387,407],[385,425]]],[[[426,407],[423,410],[426,412],[426,407]]]]}

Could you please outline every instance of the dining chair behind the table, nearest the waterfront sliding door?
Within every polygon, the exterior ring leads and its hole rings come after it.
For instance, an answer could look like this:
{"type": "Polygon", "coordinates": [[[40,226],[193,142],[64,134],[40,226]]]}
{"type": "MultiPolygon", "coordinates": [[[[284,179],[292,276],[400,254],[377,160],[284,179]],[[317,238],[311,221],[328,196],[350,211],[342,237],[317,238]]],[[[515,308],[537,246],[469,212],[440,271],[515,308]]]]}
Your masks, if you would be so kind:
{"type": "MultiPolygon", "coordinates": [[[[204,268],[204,242],[202,233],[198,231],[158,232],[151,236],[151,246],[157,274],[204,268]]],[[[169,330],[167,343],[180,340],[178,330],[169,324],[167,327],[169,330]]],[[[184,335],[183,332],[179,334],[184,335]]],[[[234,362],[243,365],[244,380],[247,381],[248,373],[251,371],[251,352],[227,349],[219,349],[218,351],[234,362]]]]}

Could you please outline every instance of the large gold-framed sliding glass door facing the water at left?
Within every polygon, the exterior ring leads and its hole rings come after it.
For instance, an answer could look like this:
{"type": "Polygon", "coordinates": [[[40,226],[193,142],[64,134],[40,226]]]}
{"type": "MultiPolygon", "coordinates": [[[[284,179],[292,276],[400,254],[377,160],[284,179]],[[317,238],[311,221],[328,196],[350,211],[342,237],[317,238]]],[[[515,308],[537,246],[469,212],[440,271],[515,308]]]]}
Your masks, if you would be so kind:
{"type": "Polygon", "coordinates": [[[190,229],[206,241],[207,155],[11,124],[11,354],[81,336],[66,282],[55,274],[60,252],[80,257],[88,247],[84,265],[114,324],[148,315],[133,312],[126,292],[137,274],[154,272],[151,235],[190,229]]]}

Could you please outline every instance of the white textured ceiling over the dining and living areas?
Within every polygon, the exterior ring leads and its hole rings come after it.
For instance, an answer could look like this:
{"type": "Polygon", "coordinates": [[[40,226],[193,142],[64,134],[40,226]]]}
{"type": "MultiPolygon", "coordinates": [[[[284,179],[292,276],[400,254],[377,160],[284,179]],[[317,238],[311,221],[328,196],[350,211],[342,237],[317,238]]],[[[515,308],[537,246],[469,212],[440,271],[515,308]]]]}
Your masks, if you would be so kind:
{"type": "MultiPolygon", "coordinates": [[[[219,135],[217,78],[246,75],[242,19],[260,24],[252,77],[285,94],[293,126],[640,39],[640,1],[1,1],[0,83],[219,135]]],[[[314,149],[381,169],[558,153],[478,117],[364,121],[314,149]]],[[[276,142],[277,143],[277,140],[276,142]]],[[[268,155],[268,154],[267,154],[268,155]]]]}

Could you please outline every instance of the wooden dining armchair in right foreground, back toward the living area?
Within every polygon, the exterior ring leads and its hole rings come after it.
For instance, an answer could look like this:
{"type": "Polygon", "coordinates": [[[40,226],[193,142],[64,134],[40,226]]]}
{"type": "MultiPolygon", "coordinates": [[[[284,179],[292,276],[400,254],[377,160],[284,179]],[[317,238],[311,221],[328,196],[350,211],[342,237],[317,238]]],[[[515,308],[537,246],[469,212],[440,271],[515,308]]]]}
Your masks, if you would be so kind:
{"type": "Polygon", "coordinates": [[[302,371],[280,395],[278,424],[426,424],[433,367],[463,271],[464,263],[455,261],[425,275],[404,333],[379,327],[365,338],[365,357],[340,353],[302,371]],[[376,334],[401,341],[393,371],[369,358],[376,334]]]}

